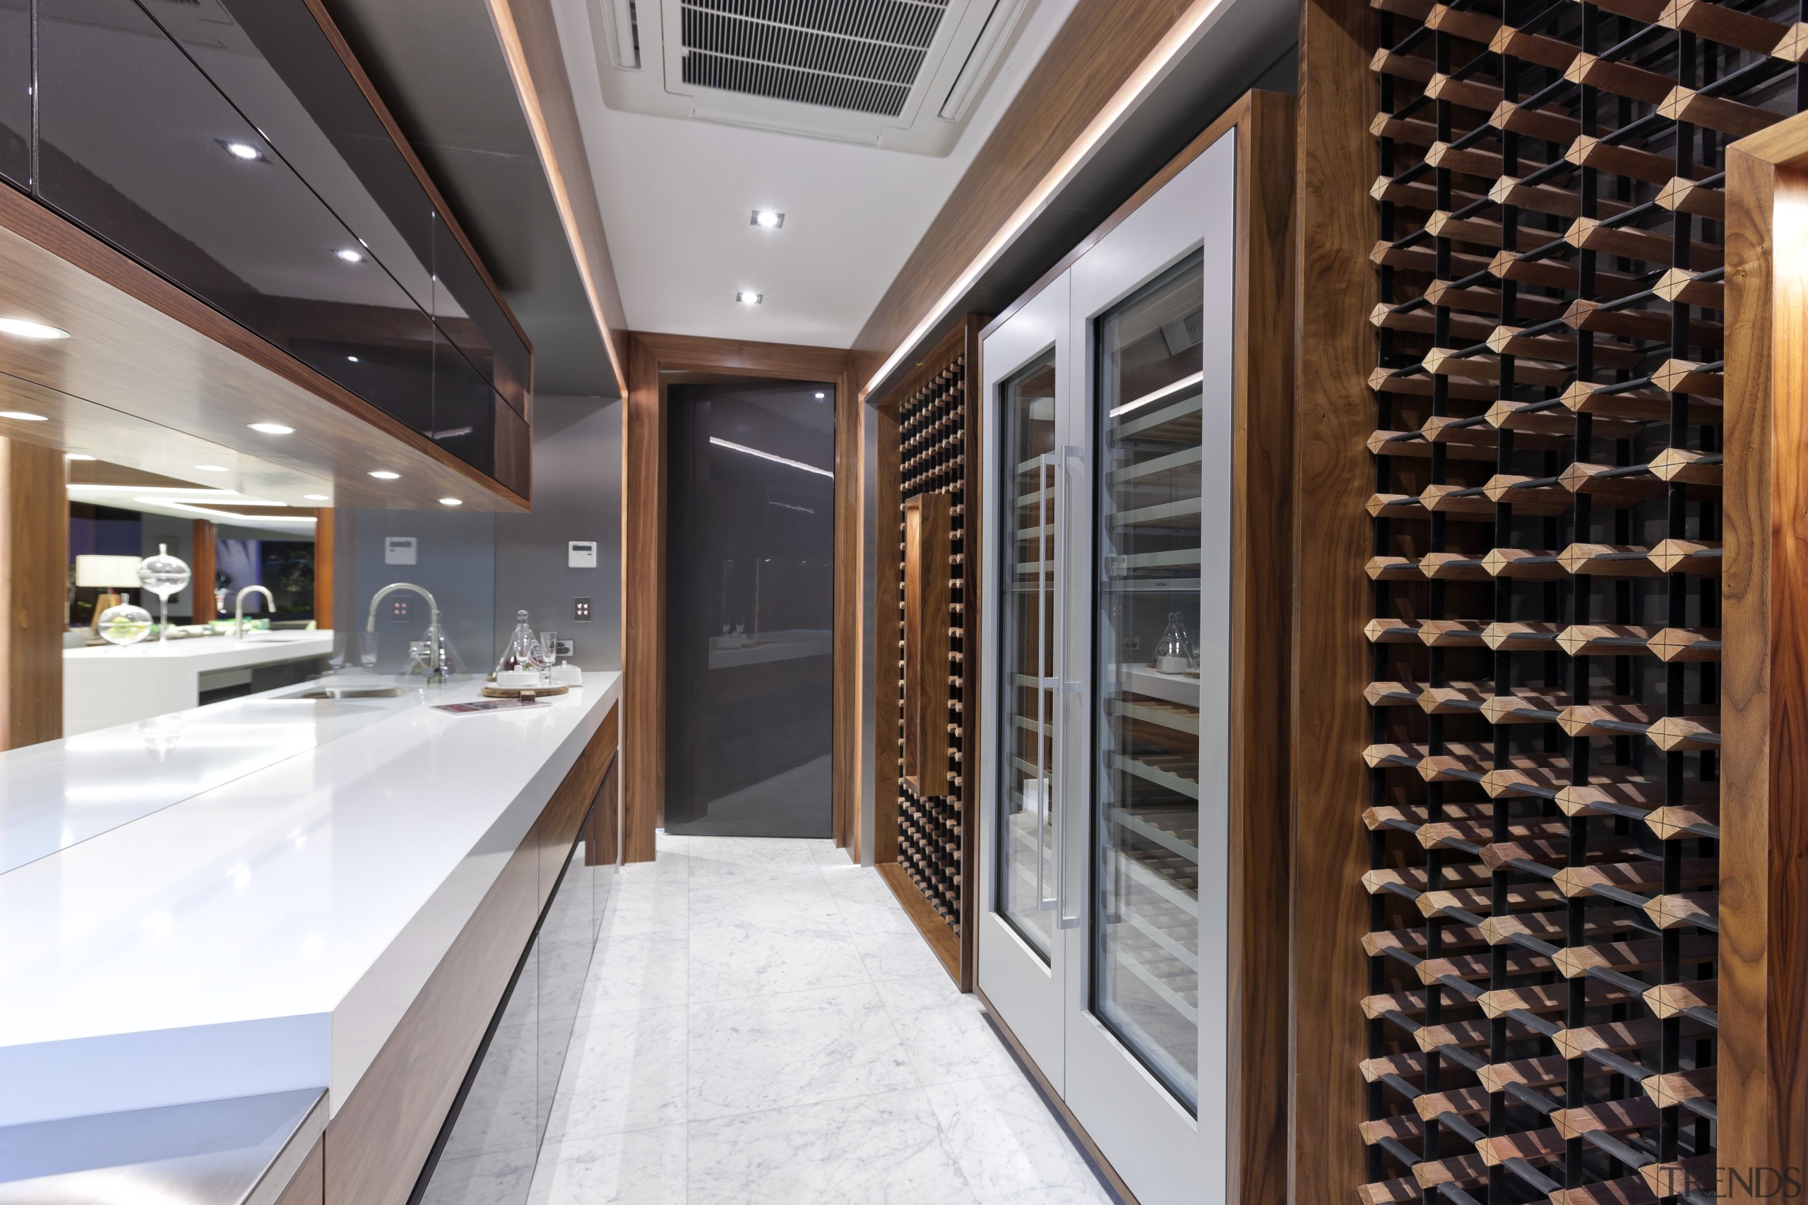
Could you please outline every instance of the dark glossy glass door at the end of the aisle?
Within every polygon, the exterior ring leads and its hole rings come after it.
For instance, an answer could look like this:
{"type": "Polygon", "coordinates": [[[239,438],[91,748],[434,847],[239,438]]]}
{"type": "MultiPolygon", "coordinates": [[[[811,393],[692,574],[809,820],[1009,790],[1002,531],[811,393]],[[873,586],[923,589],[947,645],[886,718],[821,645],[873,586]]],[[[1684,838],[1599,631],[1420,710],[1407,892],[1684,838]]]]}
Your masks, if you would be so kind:
{"type": "Polygon", "coordinates": [[[830,836],[835,388],[665,383],[665,829],[830,836]]]}

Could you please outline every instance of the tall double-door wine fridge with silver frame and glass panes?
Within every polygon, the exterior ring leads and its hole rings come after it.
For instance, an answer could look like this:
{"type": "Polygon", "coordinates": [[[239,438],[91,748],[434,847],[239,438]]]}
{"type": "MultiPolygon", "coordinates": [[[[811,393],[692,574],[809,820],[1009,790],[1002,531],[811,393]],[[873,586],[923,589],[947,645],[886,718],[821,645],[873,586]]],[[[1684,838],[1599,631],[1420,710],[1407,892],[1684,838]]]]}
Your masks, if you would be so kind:
{"type": "Polygon", "coordinates": [[[1285,547],[1249,547],[1244,490],[1287,462],[1291,394],[1249,390],[1248,108],[1226,125],[982,358],[978,986],[1143,1205],[1260,1196],[1231,1100],[1284,1095],[1285,900],[1251,892],[1285,867],[1249,871],[1285,800],[1231,744],[1262,723],[1242,679],[1285,674],[1284,640],[1249,661],[1285,621],[1249,571],[1285,547]]]}

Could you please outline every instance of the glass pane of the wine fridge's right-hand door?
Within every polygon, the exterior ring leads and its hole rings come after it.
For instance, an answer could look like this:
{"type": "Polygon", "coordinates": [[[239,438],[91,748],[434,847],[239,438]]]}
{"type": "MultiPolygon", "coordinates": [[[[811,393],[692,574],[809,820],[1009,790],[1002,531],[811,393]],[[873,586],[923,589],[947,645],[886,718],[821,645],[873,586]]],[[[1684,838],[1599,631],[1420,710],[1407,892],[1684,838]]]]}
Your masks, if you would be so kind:
{"type": "Polygon", "coordinates": [[[1199,582],[1204,267],[1097,322],[1092,1008],[1199,1100],[1199,582]]]}

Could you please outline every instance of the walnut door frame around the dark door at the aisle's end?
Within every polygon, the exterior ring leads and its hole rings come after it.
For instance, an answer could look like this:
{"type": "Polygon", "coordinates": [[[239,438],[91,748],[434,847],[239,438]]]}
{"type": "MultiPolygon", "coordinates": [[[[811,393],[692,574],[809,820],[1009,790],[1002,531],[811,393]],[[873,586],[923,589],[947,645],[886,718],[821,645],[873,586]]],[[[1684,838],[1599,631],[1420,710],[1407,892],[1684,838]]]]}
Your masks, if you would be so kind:
{"type": "Polygon", "coordinates": [[[859,853],[861,399],[848,352],[828,347],[627,336],[622,437],[622,860],[651,862],[665,804],[665,388],[660,372],[835,383],[835,634],[832,824],[859,853]]]}

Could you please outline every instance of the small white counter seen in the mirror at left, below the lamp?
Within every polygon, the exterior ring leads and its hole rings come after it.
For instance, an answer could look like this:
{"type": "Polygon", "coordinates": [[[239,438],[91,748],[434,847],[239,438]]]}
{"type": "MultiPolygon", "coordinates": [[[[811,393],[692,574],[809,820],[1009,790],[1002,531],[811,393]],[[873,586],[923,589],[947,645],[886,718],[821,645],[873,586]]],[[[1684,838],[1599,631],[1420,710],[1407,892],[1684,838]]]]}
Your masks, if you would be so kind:
{"type": "Polygon", "coordinates": [[[202,674],[251,670],[331,652],[331,631],[246,632],[244,640],[186,636],[63,649],[63,735],[199,706],[202,674]]]}

